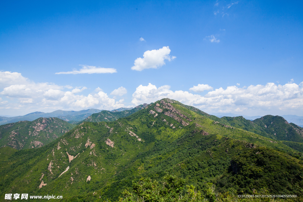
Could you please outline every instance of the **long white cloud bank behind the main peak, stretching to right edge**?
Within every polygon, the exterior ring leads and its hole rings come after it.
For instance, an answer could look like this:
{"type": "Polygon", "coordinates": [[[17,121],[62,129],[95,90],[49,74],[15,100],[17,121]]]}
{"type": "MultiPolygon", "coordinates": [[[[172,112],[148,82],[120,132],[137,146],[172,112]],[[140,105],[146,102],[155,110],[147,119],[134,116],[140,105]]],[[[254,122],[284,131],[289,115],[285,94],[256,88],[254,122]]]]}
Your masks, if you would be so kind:
{"type": "Polygon", "coordinates": [[[303,109],[303,82],[301,84],[251,85],[247,88],[228,86],[226,89],[218,88],[209,91],[205,96],[192,94],[188,91],[171,91],[170,86],[155,85],[138,86],[132,95],[132,104],[155,102],[162,98],[171,98],[184,104],[211,112],[239,112],[248,114],[261,113],[261,115],[277,114],[279,111],[293,111],[302,114],[303,109]],[[265,113],[265,114],[264,114],[265,113]]]}

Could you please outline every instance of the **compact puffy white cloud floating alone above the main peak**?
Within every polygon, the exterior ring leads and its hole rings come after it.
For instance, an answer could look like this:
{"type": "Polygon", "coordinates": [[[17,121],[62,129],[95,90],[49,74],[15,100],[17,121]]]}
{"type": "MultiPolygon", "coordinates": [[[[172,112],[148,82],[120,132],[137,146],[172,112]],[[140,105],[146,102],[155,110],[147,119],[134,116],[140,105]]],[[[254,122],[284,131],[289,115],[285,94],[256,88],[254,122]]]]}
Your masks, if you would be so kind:
{"type": "Polygon", "coordinates": [[[145,51],[143,58],[137,58],[134,62],[132,70],[142,71],[143,69],[158,68],[165,65],[165,60],[171,61],[175,56],[171,56],[168,46],[163,46],[158,50],[145,51]]]}

